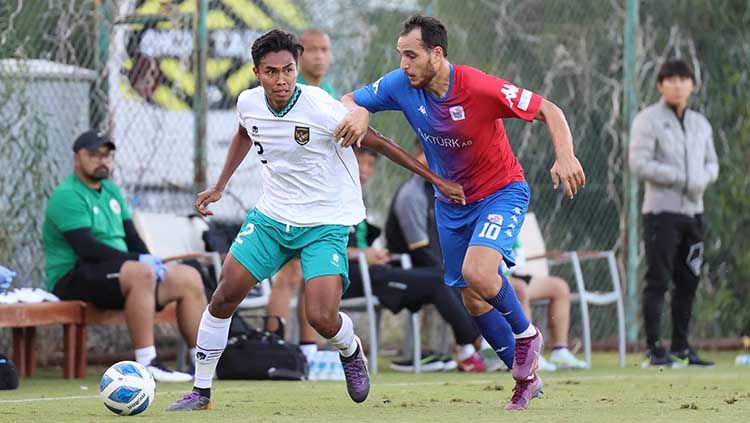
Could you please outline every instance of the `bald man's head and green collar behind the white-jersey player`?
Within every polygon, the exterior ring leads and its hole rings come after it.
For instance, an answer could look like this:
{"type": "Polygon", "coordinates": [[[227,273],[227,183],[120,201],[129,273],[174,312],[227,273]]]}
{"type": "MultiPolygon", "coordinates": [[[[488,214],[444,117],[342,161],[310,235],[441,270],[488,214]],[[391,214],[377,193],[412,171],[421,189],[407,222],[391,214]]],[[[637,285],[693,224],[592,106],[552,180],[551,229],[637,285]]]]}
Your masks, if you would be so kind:
{"type": "Polygon", "coordinates": [[[299,57],[299,75],[297,82],[320,87],[323,91],[338,99],[336,90],[326,81],[325,76],[331,67],[331,40],[328,34],[319,29],[308,29],[300,37],[305,51],[299,57]]]}

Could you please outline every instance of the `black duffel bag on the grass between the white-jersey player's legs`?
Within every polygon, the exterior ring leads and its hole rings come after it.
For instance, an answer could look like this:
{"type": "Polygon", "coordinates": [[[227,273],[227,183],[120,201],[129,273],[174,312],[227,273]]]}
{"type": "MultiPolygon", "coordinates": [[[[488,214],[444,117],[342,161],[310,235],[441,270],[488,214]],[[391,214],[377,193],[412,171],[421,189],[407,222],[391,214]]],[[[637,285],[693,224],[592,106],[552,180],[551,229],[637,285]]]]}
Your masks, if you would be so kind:
{"type": "Polygon", "coordinates": [[[216,367],[216,376],[219,379],[304,380],[307,360],[298,345],[249,327],[245,333],[230,335],[216,367]]]}

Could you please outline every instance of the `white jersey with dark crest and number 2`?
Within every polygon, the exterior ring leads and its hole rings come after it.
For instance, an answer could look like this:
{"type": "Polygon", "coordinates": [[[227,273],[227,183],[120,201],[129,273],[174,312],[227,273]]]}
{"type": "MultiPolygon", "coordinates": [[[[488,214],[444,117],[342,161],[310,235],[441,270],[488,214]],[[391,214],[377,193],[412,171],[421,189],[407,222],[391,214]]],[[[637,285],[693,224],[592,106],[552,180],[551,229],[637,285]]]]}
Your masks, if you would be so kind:
{"type": "Polygon", "coordinates": [[[237,99],[240,125],[263,164],[256,208],[292,226],[355,225],[365,218],[359,166],[352,149],[333,139],[347,109],[318,87],[296,87],[281,113],[262,87],[237,99]]]}

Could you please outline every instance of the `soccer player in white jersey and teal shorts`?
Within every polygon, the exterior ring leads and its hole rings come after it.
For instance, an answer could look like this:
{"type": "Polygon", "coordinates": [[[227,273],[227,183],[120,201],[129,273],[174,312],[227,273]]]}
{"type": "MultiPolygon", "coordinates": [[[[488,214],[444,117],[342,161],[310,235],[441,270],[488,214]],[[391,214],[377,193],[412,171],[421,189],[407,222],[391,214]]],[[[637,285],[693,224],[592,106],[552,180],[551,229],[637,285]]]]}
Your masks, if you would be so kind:
{"type": "MultiPolygon", "coordinates": [[[[219,286],[200,323],[193,390],[169,411],[210,408],[211,383],[227,343],[237,305],[260,280],[299,256],[307,284],[305,311],[315,330],[336,347],[349,396],[367,398],[367,363],[351,319],[339,312],[349,285],[346,244],[349,227],[365,218],[359,168],[351,148],[333,131],[348,110],[317,87],[297,85],[302,46],[293,34],[272,30],[252,46],[254,72],[261,87],[237,100],[239,127],[216,184],[198,194],[204,216],[221,198],[237,166],[253,145],[263,167],[263,195],[248,212],[224,260],[219,286]]],[[[423,175],[452,201],[465,201],[460,185],[432,173],[403,149],[370,130],[363,144],[423,175]]]]}

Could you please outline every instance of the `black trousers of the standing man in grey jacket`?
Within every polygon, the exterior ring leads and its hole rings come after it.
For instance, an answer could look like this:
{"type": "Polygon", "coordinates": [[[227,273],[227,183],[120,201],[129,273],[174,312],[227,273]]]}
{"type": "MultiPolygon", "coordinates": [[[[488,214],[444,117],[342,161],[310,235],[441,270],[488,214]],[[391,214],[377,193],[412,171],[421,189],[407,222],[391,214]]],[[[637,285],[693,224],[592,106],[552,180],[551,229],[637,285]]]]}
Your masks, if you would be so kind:
{"type": "Polygon", "coordinates": [[[703,215],[675,213],[643,215],[646,284],[643,321],[646,342],[659,342],[664,294],[672,283],[672,351],[688,347],[688,329],[695,291],[703,265],[703,215]]]}

